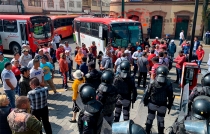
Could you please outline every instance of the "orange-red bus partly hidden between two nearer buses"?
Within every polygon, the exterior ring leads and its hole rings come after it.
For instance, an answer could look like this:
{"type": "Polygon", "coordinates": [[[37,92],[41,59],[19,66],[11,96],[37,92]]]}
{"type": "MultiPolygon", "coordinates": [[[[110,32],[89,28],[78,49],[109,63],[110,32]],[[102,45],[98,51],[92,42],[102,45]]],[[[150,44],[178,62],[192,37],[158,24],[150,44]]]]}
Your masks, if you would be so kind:
{"type": "Polygon", "coordinates": [[[73,34],[73,20],[79,16],[80,15],[49,16],[52,19],[54,34],[57,33],[61,38],[71,36],[73,34]]]}

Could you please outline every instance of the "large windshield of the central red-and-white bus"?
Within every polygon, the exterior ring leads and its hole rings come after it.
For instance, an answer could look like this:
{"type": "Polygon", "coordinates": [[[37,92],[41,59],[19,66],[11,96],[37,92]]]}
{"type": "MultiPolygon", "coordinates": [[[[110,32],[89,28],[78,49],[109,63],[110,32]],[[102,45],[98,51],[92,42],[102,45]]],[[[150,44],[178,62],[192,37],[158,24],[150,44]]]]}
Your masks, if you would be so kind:
{"type": "Polygon", "coordinates": [[[142,31],[139,23],[112,24],[112,45],[113,47],[127,47],[129,43],[132,46],[136,42],[142,43],[142,31]]]}

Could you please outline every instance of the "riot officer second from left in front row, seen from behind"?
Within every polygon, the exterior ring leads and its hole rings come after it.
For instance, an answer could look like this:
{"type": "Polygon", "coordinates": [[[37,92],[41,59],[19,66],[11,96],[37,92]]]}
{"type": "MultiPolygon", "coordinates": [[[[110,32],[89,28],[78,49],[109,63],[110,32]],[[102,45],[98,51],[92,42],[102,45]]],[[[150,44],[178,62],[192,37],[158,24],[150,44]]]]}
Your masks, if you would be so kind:
{"type": "Polygon", "coordinates": [[[96,99],[103,104],[103,115],[110,125],[114,121],[113,111],[117,96],[117,89],[112,85],[113,79],[114,73],[111,70],[105,70],[101,76],[101,84],[96,95],[96,99]]]}

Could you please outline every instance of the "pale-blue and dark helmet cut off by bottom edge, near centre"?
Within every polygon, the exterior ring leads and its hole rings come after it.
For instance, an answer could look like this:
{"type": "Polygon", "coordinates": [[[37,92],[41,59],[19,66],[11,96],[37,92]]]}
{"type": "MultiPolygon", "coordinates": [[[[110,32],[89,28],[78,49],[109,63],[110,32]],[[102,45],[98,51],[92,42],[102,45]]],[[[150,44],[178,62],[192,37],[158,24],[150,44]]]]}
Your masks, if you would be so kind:
{"type": "Polygon", "coordinates": [[[132,120],[116,122],[112,125],[112,134],[147,134],[143,127],[132,120]]]}

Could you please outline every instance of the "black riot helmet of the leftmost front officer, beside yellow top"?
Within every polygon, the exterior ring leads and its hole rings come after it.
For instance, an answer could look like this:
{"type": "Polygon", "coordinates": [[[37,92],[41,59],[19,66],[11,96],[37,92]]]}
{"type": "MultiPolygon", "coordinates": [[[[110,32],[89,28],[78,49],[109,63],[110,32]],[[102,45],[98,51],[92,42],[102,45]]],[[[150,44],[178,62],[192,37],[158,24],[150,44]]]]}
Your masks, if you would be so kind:
{"type": "Polygon", "coordinates": [[[79,86],[80,97],[83,104],[96,100],[96,90],[89,84],[81,84],[79,86]]]}

